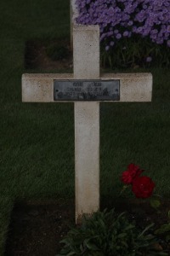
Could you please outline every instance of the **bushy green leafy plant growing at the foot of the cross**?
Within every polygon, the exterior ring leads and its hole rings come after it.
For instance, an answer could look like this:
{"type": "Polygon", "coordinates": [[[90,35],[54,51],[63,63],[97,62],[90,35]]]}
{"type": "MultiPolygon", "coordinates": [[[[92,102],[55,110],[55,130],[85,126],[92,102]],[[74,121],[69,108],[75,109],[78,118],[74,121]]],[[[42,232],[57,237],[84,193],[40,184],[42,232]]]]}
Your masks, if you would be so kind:
{"type": "Polygon", "coordinates": [[[84,216],[82,225],[71,229],[60,241],[64,247],[57,256],[167,255],[156,251],[153,225],[141,230],[124,212],[119,215],[114,210],[94,212],[91,217],[84,216]]]}

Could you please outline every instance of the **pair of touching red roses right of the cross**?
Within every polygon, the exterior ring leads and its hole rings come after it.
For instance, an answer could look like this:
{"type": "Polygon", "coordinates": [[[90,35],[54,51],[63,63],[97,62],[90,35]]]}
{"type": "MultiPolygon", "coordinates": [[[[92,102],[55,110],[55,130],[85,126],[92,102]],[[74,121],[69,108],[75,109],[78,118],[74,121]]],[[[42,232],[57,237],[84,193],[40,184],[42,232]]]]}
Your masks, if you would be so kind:
{"type": "Polygon", "coordinates": [[[122,172],[122,182],[126,185],[132,185],[132,191],[137,198],[148,198],[152,195],[155,183],[150,177],[140,176],[144,170],[140,170],[139,166],[130,164],[127,171],[122,172]]]}

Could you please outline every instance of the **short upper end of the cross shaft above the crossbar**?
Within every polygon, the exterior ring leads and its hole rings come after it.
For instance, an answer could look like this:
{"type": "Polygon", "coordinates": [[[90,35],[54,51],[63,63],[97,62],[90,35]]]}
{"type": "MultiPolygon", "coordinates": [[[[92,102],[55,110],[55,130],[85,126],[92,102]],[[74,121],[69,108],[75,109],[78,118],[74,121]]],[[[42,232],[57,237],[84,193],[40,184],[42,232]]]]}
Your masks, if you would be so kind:
{"type": "Polygon", "coordinates": [[[75,79],[99,79],[99,26],[73,28],[75,79]]]}

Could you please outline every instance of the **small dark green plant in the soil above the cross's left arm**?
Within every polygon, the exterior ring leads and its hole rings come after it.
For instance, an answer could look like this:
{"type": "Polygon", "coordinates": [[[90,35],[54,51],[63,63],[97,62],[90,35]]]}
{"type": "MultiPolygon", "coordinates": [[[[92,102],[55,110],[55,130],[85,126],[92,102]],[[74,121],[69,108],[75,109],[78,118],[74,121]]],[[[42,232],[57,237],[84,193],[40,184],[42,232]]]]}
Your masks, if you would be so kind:
{"type": "Polygon", "coordinates": [[[59,61],[68,57],[69,49],[64,45],[53,44],[47,47],[46,53],[52,61],[59,61]]]}

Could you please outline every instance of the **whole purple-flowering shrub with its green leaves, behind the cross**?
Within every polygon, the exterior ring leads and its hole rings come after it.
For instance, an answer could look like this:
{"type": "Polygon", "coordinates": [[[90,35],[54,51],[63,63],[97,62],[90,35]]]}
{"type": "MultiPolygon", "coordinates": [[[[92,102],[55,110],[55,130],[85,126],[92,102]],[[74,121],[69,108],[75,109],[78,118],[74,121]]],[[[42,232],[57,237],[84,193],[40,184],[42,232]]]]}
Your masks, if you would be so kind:
{"type": "Polygon", "coordinates": [[[170,66],[170,0],[77,0],[77,9],[77,23],[99,25],[110,66],[170,66]]]}

